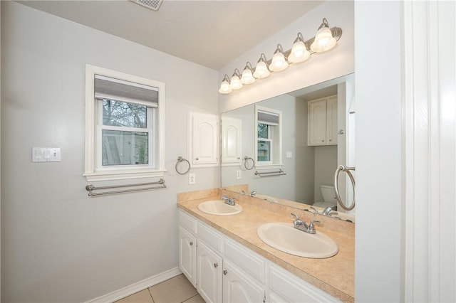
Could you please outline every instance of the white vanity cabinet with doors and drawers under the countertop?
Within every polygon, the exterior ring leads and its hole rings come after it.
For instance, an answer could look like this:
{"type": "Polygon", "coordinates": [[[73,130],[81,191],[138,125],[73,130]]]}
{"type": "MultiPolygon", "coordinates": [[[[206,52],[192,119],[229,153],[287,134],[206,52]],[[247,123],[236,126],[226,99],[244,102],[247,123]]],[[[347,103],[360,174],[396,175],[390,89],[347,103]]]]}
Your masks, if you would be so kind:
{"type": "MultiPolygon", "coordinates": [[[[190,235],[180,233],[180,239],[196,238],[195,287],[207,303],[340,302],[184,211],[179,213],[180,230],[195,230],[190,235]]],[[[191,255],[189,246],[179,246],[180,260],[191,255]]],[[[186,277],[188,263],[192,262],[179,264],[186,277]]]]}

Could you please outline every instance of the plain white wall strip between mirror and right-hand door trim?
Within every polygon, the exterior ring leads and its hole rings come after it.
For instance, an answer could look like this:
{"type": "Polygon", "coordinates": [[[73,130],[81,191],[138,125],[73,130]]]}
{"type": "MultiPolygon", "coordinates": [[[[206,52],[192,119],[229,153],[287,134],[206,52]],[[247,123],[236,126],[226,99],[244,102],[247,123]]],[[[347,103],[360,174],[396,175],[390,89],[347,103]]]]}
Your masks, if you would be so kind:
{"type": "Polygon", "coordinates": [[[356,1],[355,24],[355,298],[403,302],[401,3],[356,1]]]}

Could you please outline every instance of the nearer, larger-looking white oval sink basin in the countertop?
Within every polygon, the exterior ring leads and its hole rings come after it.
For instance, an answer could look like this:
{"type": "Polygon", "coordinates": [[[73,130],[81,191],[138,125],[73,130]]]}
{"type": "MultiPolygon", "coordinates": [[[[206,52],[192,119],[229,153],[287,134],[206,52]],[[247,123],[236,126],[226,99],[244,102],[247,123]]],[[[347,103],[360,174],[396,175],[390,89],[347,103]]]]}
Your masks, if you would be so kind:
{"type": "Polygon", "coordinates": [[[317,231],[314,235],[297,230],[292,223],[266,223],[257,234],[269,246],[299,257],[332,257],[338,252],[337,244],[317,231]]]}

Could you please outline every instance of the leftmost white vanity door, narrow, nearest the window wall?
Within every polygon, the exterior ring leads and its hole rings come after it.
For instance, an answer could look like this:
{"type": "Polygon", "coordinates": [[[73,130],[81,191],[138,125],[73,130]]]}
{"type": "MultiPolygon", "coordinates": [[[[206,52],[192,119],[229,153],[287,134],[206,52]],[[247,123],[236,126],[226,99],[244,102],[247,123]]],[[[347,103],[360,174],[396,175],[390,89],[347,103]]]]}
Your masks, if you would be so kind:
{"type": "Polygon", "coordinates": [[[179,227],[179,268],[195,286],[196,283],[197,240],[192,233],[179,227]]]}

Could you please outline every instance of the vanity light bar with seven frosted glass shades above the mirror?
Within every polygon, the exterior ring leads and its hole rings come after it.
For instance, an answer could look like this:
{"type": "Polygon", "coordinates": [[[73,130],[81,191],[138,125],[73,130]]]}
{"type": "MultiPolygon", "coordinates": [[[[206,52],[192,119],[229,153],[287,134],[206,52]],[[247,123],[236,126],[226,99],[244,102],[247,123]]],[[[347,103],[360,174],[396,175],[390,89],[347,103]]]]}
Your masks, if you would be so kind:
{"type": "Polygon", "coordinates": [[[284,51],[281,44],[278,44],[272,59],[269,61],[266,59],[266,55],[261,53],[257,66],[252,68],[252,65],[247,62],[242,76],[236,68],[232,75],[231,83],[228,75],[224,75],[219,92],[221,94],[229,94],[233,90],[241,89],[245,84],[252,84],[257,79],[269,77],[271,73],[285,70],[289,64],[304,62],[314,53],[323,53],[331,50],[337,45],[337,41],[341,36],[342,29],[338,27],[330,29],[328,20],[323,18],[315,37],[304,41],[302,33],[298,33],[291,49],[284,51]]]}

